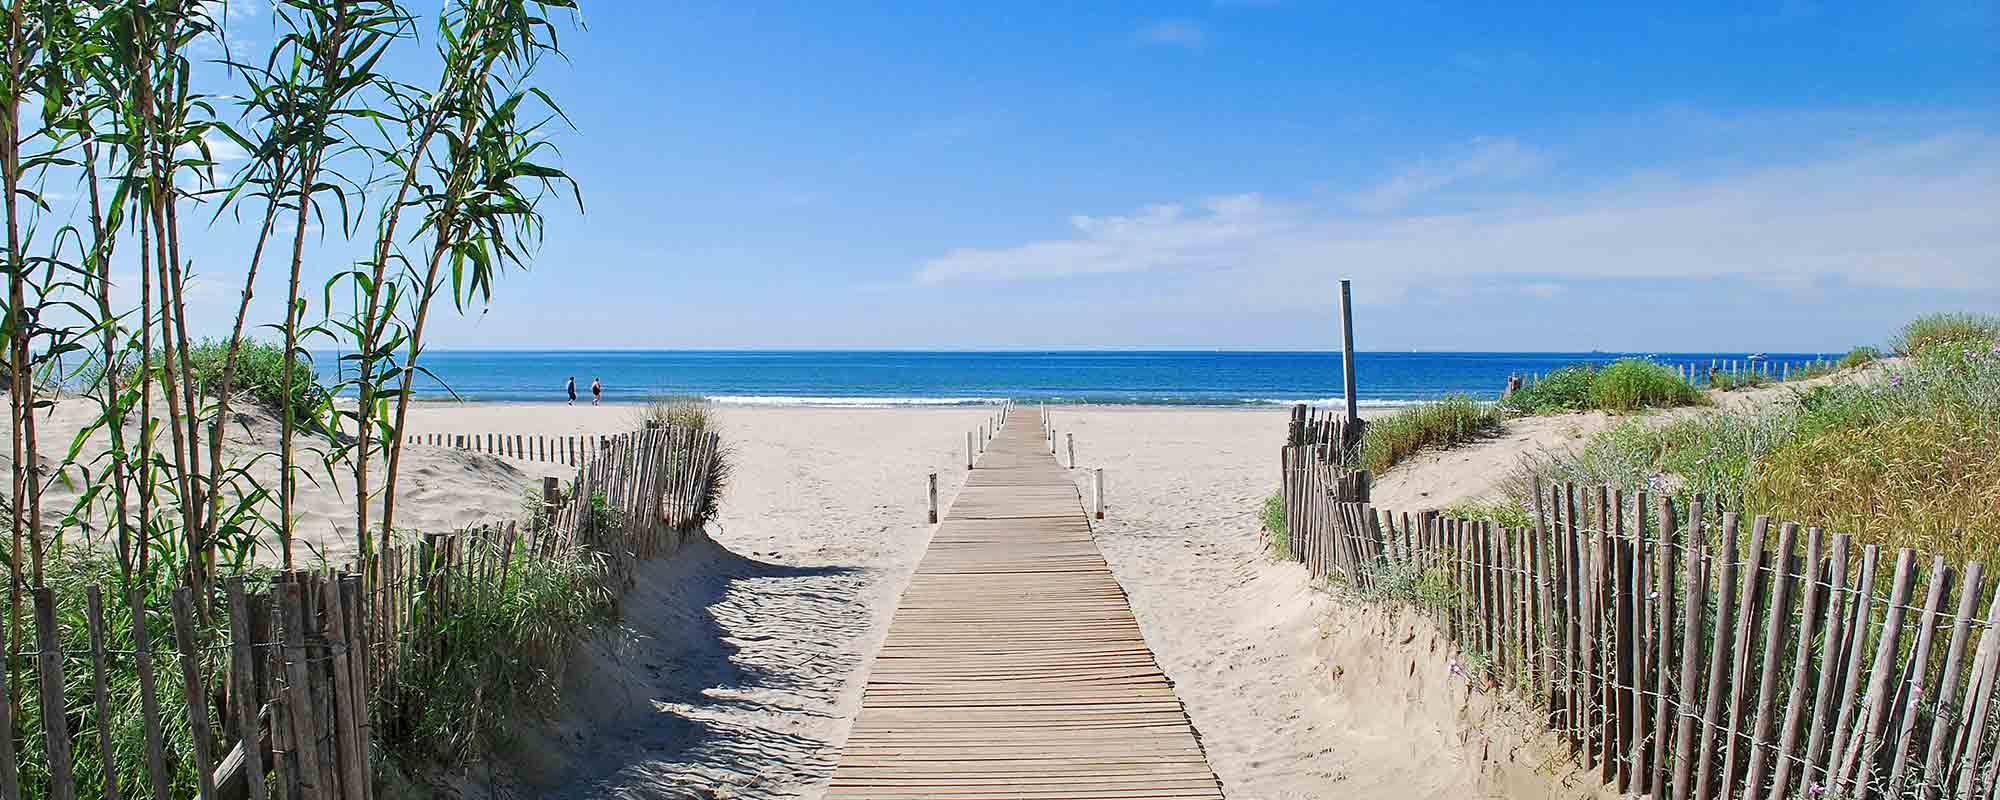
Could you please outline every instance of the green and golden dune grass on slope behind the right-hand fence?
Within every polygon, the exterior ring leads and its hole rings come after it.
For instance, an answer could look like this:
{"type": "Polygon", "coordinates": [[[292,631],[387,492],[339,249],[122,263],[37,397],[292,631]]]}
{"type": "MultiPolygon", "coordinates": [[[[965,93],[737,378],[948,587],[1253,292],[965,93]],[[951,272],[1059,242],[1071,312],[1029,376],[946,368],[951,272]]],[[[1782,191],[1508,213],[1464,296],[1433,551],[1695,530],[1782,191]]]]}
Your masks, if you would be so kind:
{"type": "MultiPolygon", "coordinates": [[[[1674,496],[1852,532],[1956,562],[2000,556],[2000,336],[1920,336],[1882,380],[1812,386],[1758,414],[1626,422],[1526,460],[1532,476],[1674,496]]],[[[1908,334],[1908,332],[1906,332],[1908,334]]]]}

